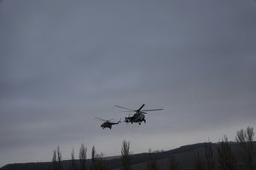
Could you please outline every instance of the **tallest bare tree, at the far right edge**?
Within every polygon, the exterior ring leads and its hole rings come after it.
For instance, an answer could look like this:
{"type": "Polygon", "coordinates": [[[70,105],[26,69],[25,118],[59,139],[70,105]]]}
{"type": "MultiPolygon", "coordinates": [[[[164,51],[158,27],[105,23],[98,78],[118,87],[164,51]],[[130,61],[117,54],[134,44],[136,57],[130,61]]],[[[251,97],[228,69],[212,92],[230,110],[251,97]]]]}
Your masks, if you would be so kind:
{"type": "Polygon", "coordinates": [[[253,170],[253,127],[241,129],[236,133],[236,142],[239,144],[240,155],[247,169],[253,170]]]}

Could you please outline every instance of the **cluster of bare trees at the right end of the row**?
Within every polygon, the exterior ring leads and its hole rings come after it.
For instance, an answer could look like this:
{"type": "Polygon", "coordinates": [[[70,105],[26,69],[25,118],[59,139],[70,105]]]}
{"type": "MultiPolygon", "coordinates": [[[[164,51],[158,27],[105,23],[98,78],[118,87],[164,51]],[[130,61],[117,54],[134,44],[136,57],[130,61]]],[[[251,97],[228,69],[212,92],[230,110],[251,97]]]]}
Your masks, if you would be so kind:
{"type": "Polygon", "coordinates": [[[247,127],[247,129],[241,129],[236,132],[236,142],[238,145],[238,156],[232,149],[232,144],[228,137],[224,135],[218,144],[216,144],[217,156],[214,156],[214,150],[212,149],[212,143],[207,142],[205,144],[205,159],[200,153],[195,155],[195,169],[196,170],[215,170],[218,167],[222,170],[235,170],[235,169],[247,169],[254,170],[256,157],[253,155],[253,127],[247,127]],[[242,166],[238,167],[238,158],[242,161],[242,166]],[[217,159],[217,160],[215,160],[217,159]]]}

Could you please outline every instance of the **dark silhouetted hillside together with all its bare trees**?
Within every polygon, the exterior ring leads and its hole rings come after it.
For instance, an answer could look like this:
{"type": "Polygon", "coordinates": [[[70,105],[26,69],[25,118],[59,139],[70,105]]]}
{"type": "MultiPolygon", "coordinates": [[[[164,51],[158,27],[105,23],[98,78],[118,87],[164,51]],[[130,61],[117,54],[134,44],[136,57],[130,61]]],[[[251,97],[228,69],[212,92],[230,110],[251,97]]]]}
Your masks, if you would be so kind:
{"type": "Polygon", "coordinates": [[[131,165],[137,169],[183,169],[207,170],[207,169],[255,169],[256,142],[253,142],[253,127],[239,130],[236,133],[236,142],[229,142],[224,136],[218,144],[201,143],[189,144],[168,151],[155,151],[132,155],[130,142],[123,141],[121,147],[122,156],[105,158],[103,154],[97,154],[93,146],[91,159],[87,160],[87,149],[81,144],[79,160],[75,159],[74,150],[71,152],[71,160],[61,161],[61,150],[57,147],[53,150],[51,162],[10,164],[1,167],[0,170],[108,170],[123,167],[130,170],[131,165]],[[108,161],[107,161],[108,160],[108,161]],[[217,162],[218,161],[218,162],[217,162]],[[181,162],[182,164],[180,164],[181,162]],[[85,166],[84,166],[85,165],[85,166]],[[168,167],[167,167],[168,166],[168,167]]]}

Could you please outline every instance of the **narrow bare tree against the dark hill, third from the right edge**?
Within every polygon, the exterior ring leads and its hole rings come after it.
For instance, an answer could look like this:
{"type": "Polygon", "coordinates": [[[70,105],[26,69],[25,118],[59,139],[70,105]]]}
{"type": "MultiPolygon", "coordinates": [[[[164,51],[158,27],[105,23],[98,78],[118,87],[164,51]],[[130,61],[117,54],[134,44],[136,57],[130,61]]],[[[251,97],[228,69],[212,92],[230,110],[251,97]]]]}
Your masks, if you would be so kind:
{"type": "Polygon", "coordinates": [[[208,170],[214,170],[215,169],[215,160],[213,156],[212,151],[212,143],[207,142],[205,144],[205,155],[206,155],[206,166],[208,170]]]}

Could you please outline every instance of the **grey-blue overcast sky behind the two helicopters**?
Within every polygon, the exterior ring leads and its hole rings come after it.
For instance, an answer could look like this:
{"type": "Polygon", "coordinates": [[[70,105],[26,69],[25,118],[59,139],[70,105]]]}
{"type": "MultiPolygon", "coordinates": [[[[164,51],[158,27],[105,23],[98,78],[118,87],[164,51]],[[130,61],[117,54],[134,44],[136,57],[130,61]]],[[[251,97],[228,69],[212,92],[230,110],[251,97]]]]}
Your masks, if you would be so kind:
{"type": "Polygon", "coordinates": [[[105,156],[256,128],[253,0],[0,1],[0,166],[105,156]],[[142,125],[114,105],[163,108],[142,125]]]}

